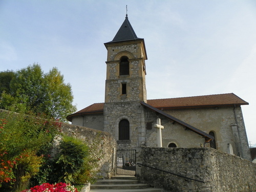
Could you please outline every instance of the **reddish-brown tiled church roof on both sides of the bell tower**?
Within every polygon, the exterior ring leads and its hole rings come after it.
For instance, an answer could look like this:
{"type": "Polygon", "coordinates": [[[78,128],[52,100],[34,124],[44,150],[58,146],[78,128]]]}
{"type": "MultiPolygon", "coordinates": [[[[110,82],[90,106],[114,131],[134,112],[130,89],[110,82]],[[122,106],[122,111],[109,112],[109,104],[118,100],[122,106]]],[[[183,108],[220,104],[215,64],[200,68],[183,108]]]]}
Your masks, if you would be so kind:
{"type": "MultiPolygon", "coordinates": [[[[204,95],[195,97],[180,97],[170,99],[151,99],[147,100],[147,104],[157,109],[177,109],[177,108],[198,108],[205,106],[227,106],[227,105],[244,105],[249,104],[233,93],[204,95]]],[[[67,117],[71,121],[71,117],[82,114],[103,113],[104,103],[94,103],[67,117]]]]}

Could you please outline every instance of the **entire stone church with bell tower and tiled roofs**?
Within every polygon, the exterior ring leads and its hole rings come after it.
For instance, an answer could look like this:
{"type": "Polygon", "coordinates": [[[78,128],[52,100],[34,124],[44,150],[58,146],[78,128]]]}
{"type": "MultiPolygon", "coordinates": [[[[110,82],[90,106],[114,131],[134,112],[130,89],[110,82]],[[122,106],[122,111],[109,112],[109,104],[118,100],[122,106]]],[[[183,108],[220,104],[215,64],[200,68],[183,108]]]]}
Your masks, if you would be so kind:
{"type": "Polygon", "coordinates": [[[109,132],[119,149],[133,149],[157,147],[154,124],[160,118],[163,147],[212,147],[251,161],[241,110],[248,102],[233,93],[147,99],[146,47],[127,15],[104,45],[105,102],[69,115],[72,124],[109,132]]]}

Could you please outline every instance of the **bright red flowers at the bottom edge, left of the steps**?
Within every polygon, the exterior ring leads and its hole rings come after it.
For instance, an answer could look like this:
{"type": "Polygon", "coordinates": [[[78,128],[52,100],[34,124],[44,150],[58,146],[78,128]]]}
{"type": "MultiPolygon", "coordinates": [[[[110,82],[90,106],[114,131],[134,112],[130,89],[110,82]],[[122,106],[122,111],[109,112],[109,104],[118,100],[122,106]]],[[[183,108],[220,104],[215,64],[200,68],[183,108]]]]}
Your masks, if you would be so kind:
{"type": "Polygon", "coordinates": [[[67,183],[49,184],[44,183],[23,190],[22,192],[78,192],[77,188],[67,183]]]}

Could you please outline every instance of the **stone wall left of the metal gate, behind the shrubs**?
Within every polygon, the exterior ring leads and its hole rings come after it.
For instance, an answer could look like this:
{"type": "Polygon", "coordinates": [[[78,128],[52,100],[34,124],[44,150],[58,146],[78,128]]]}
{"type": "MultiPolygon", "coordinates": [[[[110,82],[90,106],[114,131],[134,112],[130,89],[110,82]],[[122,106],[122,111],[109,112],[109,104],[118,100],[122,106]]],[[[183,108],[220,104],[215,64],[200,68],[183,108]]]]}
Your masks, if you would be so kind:
{"type": "Polygon", "coordinates": [[[116,141],[109,133],[65,123],[61,125],[61,129],[69,136],[77,137],[86,141],[89,146],[97,148],[97,153],[102,153],[103,156],[99,160],[100,178],[109,179],[115,175],[116,141]]]}

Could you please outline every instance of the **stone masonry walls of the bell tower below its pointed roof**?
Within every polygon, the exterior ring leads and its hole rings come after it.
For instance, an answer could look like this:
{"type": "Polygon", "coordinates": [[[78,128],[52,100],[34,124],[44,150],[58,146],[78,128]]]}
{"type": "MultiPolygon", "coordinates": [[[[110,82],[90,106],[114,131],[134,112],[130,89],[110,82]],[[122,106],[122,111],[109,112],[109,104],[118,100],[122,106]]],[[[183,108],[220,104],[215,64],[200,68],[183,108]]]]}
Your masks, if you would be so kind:
{"type": "Polygon", "coordinates": [[[144,42],[132,40],[105,45],[108,49],[108,58],[103,131],[112,134],[119,149],[134,148],[145,143],[145,125],[140,104],[140,101],[146,100],[144,42]],[[120,58],[123,56],[129,61],[127,75],[119,73],[120,58]],[[119,140],[119,122],[122,119],[130,123],[130,135],[126,140],[119,140]]]}

